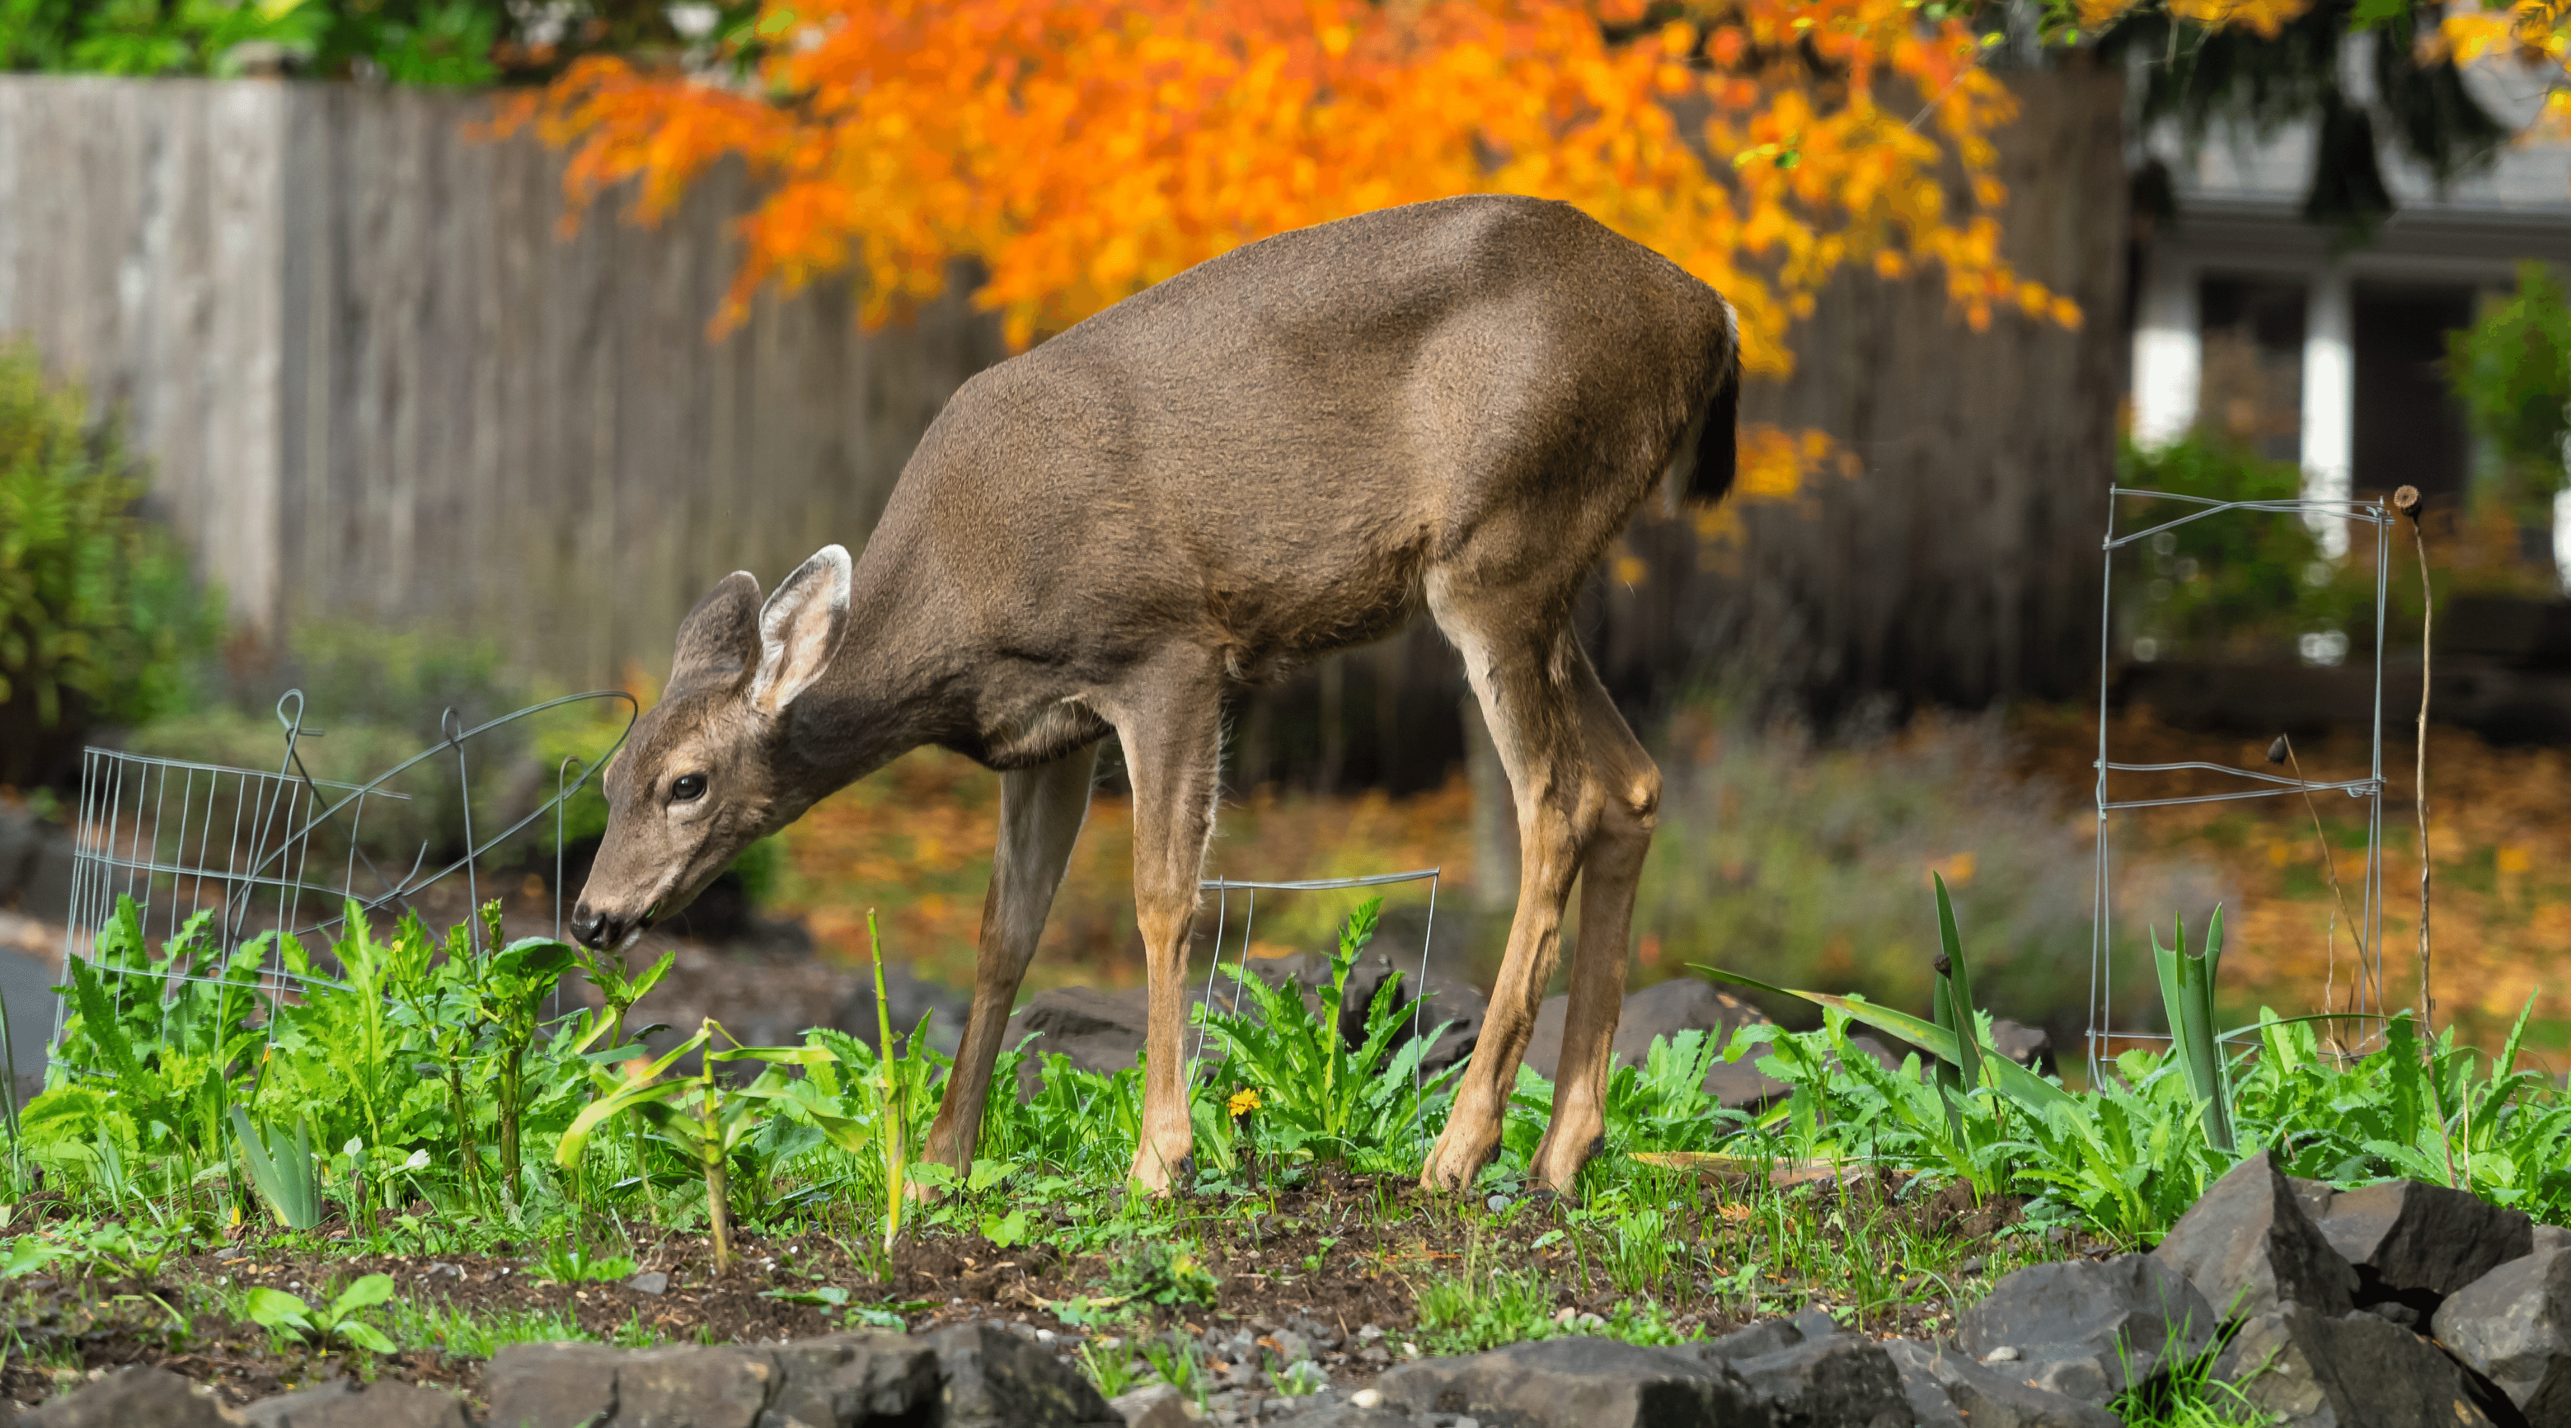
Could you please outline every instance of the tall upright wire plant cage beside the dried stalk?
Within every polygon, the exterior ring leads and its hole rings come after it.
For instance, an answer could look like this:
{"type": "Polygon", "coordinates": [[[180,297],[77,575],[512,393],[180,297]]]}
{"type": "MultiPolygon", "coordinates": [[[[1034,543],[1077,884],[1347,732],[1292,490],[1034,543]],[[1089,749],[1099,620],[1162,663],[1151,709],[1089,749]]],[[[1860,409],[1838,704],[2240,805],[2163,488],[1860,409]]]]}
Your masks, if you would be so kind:
{"type": "MultiPolygon", "coordinates": [[[[2327,806],[2324,799],[2355,799],[2363,804],[2365,822],[2365,871],[2363,901],[2350,912],[2350,927],[2345,930],[2355,950],[2355,976],[2350,979],[2345,1004],[2327,1007],[2329,1012],[2352,1017],[2360,1027],[2370,1027],[2355,1048],[2368,1045],[2381,1035],[2383,1022],[2383,655],[2386,655],[2386,596],[2391,578],[2391,527],[2394,511],[2383,501],[2347,501],[2347,498],[2293,498],[2293,501],[2221,501],[2211,496],[2183,496],[2172,491],[2139,491],[2126,485],[2108,485],[2108,524],[2103,539],[2103,598],[2098,614],[2098,830],[2095,830],[2095,884],[2093,884],[2093,914],[2090,914],[2090,991],[2088,991],[2088,1076],[2090,1084],[2098,1081],[2103,1063],[2113,1058],[2116,1043],[2167,1043],[2170,1035],[2162,1030],[2119,1025],[2116,986],[2121,979],[2119,950],[2116,950],[2116,840],[2113,824],[2116,814],[2139,814],[2144,809],[2175,809],[2190,804],[2226,804],[2244,799],[2311,799],[2314,809],[2327,806]],[[2188,506],[2183,514],[2170,519],[2157,519],[2129,532],[2116,529],[2121,501],[2167,501],[2175,506],[2188,506]],[[2180,763],[2126,763],[2116,758],[2113,724],[2108,719],[2111,696],[2111,660],[2116,655],[2116,552],[2139,547],[2154,537],[2175,534],[2183,527],[2208,519],[2301,519],[2316,534],[2322,534],[2324,550],[2340,552],[2342,544],[2334,539],[2347,527],[2373,527],[2373,555],[2376,555],[2376,588],[2373,588],[2373,647],[2358,650],[2355,642],[2345,642],[2342,657],[2365,655],[2368,657],[2368,742],[2365,742],[2365,773],[2352,778],[2322,778],[2306,781],[2291,773],[2270,773],[2260,768],[2237,768],[2226,763],[2180,760],[2180,763]],[[2188,776],[2216,776],[2216,791],[2175,791],[2175,786],[2188,776]]],[[[2352,542],[2347,542],[2352,544],[2352,542]]],[[[2306,650],[2309,655],[2309,650],[2306,650]]],[[[2314,812],[2319,819],[2319,812],[2314,812]]],[[[2337,858],[2332,850],[2329,858],[2337,858]]],[[[2332,871],[2332,878],[2337,873],[2332,871]]],[[[2332,925],[2332,937],[2340,935],[2332,925]]],[[[2131,955],[2131,953],[2126,953],[2131,955]]]]}

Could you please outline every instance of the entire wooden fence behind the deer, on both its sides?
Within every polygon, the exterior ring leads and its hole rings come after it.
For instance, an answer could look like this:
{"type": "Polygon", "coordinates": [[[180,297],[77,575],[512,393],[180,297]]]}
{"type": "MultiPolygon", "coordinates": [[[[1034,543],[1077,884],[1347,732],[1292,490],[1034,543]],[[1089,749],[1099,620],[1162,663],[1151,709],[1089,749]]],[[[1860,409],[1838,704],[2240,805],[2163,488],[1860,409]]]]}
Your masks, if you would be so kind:
{"type": "MultiPolygon", "coordinates": [[[[1635,701],[1746,663],[1820,701],[1980,704],[2090,670],[2121,393],[2113,77],[2026,74],[2008,249],[2080,331],[1967,331],[1933,277],[1849,277],[1748,416],[1867,475],[1748,511],[1728,547],[1645,514],[1586,627],[1635,701]],[[1630,570],[1630,568],[1627,568],[1630,570]]],[[[0,334],[123,411],[234,616],[501,640],[558,683],[668,660],[725,570],[859,544],[946,396],[1003,357],[949,300],[861,334],[843,285],[722,342],[735,180],[658,229],[563,236],[560,159],[476,98],[0,77],[0,334]]],[[[1411,634],[1252,701],[1242,773],[1417,783],[1460,750],[1458,665],[1411,634]]]]}

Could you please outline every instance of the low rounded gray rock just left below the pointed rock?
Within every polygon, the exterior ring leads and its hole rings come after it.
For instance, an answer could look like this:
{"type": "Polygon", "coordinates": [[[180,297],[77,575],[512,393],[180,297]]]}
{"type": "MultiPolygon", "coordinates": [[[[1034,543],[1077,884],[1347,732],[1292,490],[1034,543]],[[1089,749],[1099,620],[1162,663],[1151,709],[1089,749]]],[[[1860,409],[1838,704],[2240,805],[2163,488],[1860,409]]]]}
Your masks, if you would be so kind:
{"type": "Polygon", "coordinates": [[[2011,1346],[2016,1377],[2080,1402],[2106,1402],[2149,1379],[2172,1354],[2203,1354],[2214,1328],[2214,1307],[2183,1274],[2147,1253],[2119,1253],[2003,1276],[1957,1320],[1957,1343],[1975,1359],[2011,1346]]]}

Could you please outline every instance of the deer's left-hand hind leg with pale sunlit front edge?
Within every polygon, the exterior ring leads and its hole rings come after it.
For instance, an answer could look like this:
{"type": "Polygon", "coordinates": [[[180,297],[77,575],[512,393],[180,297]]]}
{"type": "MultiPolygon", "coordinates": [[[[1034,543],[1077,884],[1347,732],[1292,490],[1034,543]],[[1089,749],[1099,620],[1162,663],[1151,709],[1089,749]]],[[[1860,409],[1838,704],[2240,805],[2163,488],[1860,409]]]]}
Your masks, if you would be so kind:
{"type": "MultiPolygon", "coordinates": [[[[1509,922],[1509,950],[1499,963],[1499,984],[1491,989],[1491,1012],[1483,1020],[1473,1061],[1465,1066],[1463,1086],[1455,1092],[1447,1128],[1419,1174],[1419,1181],[1432,1189],[1460,1189],[1499,1153],[1499,1125],[1509,1089],[1517,1084],[1517,1061],[1527,1053],[1535,1007],[1561,958],[1563,901],[1571,896],[1571,881],[1579,876],[1581,858],[1604,817],[1607,786],[1589,768],[1589,719],[1584,714],[1584,699],[1597,686],[1597,673],[1589,670],[1589,657],[1573,640],[1568,619],[1535,622],[1507,593],[1489,601],[1458,598],[1440,580],[1429,583],[1429,609],[1437,614],[1437,627],[1463,652],[1465,675],[1481,699],[1499,760],[1509,771],[1519,845],[1517,917],[1509,922]]],[[[1599,696],[1604,699],[1604,691],[1599,696]]],[[[1594,963],[1602,955],[1581,958],[1581,966],[1591,968],[1591,981],[1597,981],[1594,963]]],[[[1573,1017],[1581,1012],[1594,1020],[1597,997],[1581,997],[1576,989],[1573,1017]]],[[[1604,1017],[1607,1035],[1612,1035],[1615,1007],[1607,1007],[1604,1017]]],[[[1576,1025],[1589,1032],[1586,1022],[1576,1025]]],[[[1573,1043],[1566,1038],[1566,1058],[1571,1048],[1573,1043]]],[[[1555,1104],[1561,1104],[1561,1094],[1555,1094],[1555,1104]]],[[[1581,1151],[1586,1151],[1586,1140],[1581,1140],[1581,1151]]],[[[1568,1166],[1561,1181],[1548,1184],[1568,1189],[1579,1161],[1573,1158],[1568,1166]]]]}

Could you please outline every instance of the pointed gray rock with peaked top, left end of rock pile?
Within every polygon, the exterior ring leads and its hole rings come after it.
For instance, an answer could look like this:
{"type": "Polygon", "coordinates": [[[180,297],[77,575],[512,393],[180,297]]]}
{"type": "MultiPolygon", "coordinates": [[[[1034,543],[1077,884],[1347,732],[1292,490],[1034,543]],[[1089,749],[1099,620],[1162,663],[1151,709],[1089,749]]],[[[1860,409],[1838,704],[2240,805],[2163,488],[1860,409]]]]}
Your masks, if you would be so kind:
{"type": "Polygon", "coordinates": [[[2250,1156],[2214,1181],[2152,1258],[2185,1274],[2226,1320],[2280,1302],[2324,1318],[2355,1307],[2358,1271],[2329,1248],[2273,1153],[2250,1156]]]}

